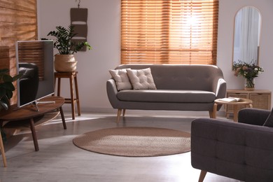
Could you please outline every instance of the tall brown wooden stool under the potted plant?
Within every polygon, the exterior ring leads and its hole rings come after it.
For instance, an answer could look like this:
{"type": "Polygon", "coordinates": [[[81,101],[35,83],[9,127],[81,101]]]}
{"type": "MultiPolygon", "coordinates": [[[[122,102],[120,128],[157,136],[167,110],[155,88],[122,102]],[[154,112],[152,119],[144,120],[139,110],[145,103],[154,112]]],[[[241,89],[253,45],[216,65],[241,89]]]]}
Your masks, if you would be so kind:
{"type": "Polygon", "coordinates": [[[70,83],[70,98],[64,98],[64,104],[71,104],[72,109],[72,119],[75,120],[75,104],[77,104],[78,116],[80,116],[80,100],[78,97],[78,82],[77,82],[77,73],[78,71],[73,72],[55,72],[55,85],[56,79],[58,78],[57,85],[57,96],[60,96],[61,92],[61,78],[69,78],[70,83]],[[76,92],[76,97],[74,93],[74,88],[76,92]]]}

